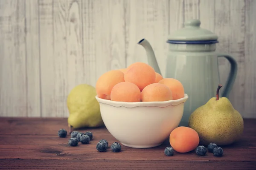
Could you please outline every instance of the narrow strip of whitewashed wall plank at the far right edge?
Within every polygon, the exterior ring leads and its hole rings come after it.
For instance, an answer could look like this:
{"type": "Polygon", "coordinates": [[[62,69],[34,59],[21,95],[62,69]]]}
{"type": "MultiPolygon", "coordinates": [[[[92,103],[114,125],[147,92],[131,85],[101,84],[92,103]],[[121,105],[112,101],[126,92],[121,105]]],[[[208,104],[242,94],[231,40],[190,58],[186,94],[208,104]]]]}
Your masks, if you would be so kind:
{"type": "MultiPolygon", "coordinates": [[[[244,117],[256,117],[256,1],[245,3],[244,117]],[[251,113],[250,113],[251,112],[251,113]]],[[[234,89],[235,90],[235,89],[234,89]]]]}

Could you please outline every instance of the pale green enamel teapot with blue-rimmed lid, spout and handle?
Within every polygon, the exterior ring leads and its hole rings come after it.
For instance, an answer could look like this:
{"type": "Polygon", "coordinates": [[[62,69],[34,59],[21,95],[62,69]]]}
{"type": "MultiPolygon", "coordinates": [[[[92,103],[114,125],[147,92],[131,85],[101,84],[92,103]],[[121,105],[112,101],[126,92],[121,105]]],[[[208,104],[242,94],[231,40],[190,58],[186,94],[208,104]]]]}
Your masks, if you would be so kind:
{"type": "Polygon", "coordinates": [[[179,80],[183,84],[185,93],[189,96],[184,105],[184,113],[179,126],[188,126],[190,114],[210,98],[216,96],[219,83],[225,83],[220,82],[218,57],[225,57],[231,64],[229,77],[220,96],[228,97],[236,79],[236,60],[230,55],[216,52],[218,36],[200,28],[200,25],[200,20],[188,20],[184,23],[183,28],[169,35],[165,75],[160,72],[149,42],[145,39],[138,42],[145,48],[148,64],[164,78],[179,80]]]}

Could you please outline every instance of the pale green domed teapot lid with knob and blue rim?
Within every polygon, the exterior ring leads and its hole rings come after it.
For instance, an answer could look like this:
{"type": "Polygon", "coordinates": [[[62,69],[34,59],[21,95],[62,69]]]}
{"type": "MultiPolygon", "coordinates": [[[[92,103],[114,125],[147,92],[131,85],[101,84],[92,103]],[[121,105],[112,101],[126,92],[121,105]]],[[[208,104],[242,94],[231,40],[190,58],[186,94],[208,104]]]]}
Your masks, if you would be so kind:
{"type": "Polygon", "coordinates": [[[218,43],[218,36],[211,31],[200,28],[200,20],[187,20],[184,27],[170,34],[171,44],[213,44],[218,43]]]}

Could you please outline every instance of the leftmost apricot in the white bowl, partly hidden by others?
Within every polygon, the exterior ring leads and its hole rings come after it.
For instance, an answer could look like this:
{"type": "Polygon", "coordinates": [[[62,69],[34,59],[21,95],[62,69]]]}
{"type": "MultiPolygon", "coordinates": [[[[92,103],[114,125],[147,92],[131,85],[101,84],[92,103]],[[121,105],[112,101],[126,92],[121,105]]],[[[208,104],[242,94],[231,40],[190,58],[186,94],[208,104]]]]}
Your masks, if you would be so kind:
{"type": "Polygon", "coordinates": [[[120,70],[111,70],[102,74],[96,82],[96,93],[99,98],[111,99],[111,90],[119,82],[124,82],[124,73],[120,70]]]}

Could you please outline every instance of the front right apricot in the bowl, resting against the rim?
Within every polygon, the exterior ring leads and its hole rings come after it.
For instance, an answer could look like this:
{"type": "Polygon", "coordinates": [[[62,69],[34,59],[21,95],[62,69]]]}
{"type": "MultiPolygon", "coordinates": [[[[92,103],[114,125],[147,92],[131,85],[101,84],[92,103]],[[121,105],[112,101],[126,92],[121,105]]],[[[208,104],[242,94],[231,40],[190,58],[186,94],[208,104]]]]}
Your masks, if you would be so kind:
{"type": "Polygon", "coordinates": [[[152,83],[141,92],[142,102],[160,102],[172,100],[172,91],[163,84],[152,83]]]}

